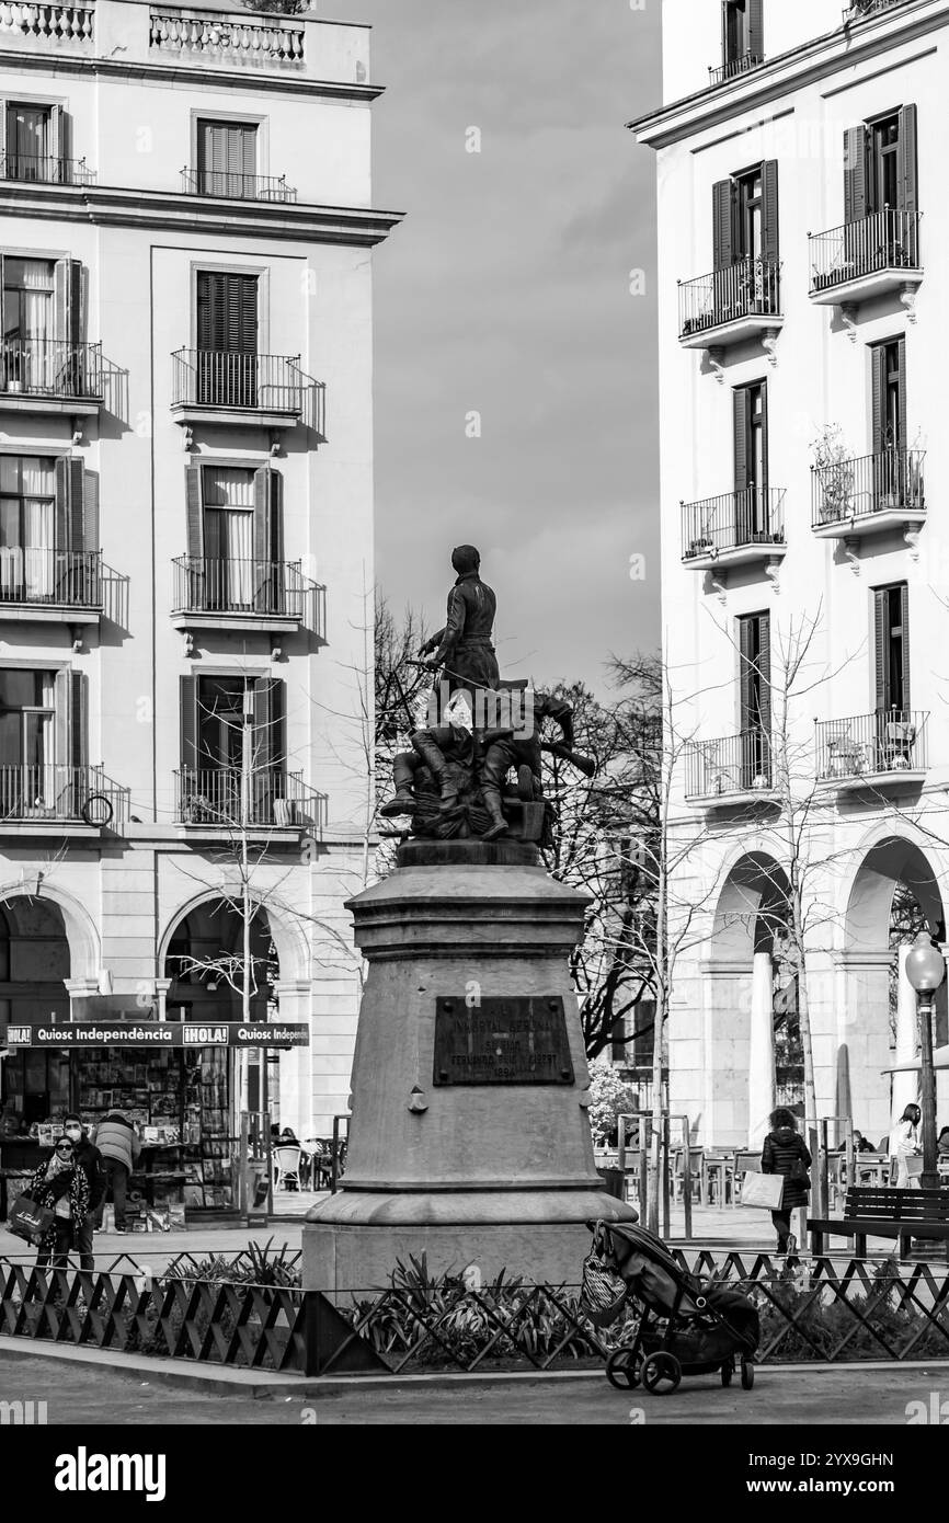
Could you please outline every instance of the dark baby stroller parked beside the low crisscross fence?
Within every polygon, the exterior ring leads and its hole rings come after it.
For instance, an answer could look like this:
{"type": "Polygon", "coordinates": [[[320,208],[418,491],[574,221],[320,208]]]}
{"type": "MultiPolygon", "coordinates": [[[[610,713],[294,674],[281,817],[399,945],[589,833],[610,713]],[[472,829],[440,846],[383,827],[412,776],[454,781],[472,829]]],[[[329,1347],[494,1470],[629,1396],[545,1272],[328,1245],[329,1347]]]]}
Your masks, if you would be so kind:
{"type": "Polygon", "coordinates": [[[759,1314],[739,1290],[704,1285],[676,1264],[660,1238],[629,1221],[590,1223],[594,1252],[626,1284],[626,1296],[609,1308],[615,1320],[625,1301],[640,1308],[632,1342],[614,1349],[606,1378],[617,1390],[640,1383],[655,1395],[678,1387],[682,1375],[719,1371],[730,1386],[740,1369],[742,1387],[754,1386],[754,1352],[760,1342],[759,1314]]]}

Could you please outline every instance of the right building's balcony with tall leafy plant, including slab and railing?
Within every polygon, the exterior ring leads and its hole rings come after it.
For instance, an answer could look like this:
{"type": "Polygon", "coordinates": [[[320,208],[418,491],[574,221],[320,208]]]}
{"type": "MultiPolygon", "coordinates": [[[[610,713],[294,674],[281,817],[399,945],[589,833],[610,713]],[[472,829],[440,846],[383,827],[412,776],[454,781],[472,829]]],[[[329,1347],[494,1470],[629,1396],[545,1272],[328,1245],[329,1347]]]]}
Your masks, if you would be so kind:
{"type": "Polygon", "coordinates": [[[810,468],[812,528],[818,539],[859,539],[926,522],[925,449],[883,449],[810,468]]]}

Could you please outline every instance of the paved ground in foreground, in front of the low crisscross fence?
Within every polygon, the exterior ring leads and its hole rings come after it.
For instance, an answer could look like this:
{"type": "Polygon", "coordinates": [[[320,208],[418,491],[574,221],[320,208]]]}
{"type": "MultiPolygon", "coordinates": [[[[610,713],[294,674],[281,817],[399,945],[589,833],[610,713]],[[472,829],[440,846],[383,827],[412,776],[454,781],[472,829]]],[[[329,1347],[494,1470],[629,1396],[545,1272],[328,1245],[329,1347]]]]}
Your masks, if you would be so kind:
{"type": "MultiPolygon", "coordinates": [[[[250,1377],[253,1380],[253,1375],[250,1377]]],[[[221,1395],[181,1390],[116,1374],[108,1366],[69,1365],[40,1357],[6,1359],[0,1343],[0,1401],[46,1401],[50,1426],[97,1427],[239,1424],[267,1427],[439,1426],[478,1427],[570,1422],[583,1427],[682,1424],[905,1426],[911,1403],[932,1409],[932,1394],[949,1394],[949,1366],[847,1366],[757,1371],[754,1390],[717,1377],[682,1381],[675,1395],[614,1390],[603,1375],[497,1380],[417,1378],[335,1383],[315,1398],[280,1392],[264,1400],[239,1387],[221,1395]]],[[[920,1409],[917,1409],[920,1410],[920,1409]]],[[[949,1410],[949,1407],[947,1407],[949,1410]]]]}

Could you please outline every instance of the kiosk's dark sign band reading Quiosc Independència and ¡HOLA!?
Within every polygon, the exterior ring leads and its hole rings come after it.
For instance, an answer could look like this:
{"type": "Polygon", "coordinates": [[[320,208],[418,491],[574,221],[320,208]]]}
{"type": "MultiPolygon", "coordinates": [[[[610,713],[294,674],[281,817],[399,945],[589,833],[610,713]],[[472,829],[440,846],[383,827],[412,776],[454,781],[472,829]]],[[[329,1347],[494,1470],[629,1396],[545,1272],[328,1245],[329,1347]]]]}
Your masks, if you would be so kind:
{"type": "Polygon", "coordinates": [[[11,1022],[8,1048],[294,1048],[309,1046],[309,1027],[297,1020],[32,1020],[11,1022]]]}

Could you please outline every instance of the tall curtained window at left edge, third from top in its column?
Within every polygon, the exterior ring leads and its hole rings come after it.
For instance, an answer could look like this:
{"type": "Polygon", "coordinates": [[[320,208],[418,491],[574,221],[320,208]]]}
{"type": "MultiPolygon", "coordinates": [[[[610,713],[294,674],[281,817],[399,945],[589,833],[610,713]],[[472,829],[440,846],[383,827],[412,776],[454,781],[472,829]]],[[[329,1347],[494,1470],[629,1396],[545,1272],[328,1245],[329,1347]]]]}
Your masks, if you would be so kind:
{"type": "Polygon", "coordinates": [[[55,510],[53,460],[0,455],[0,599],[52,594],[55,510]]]}

